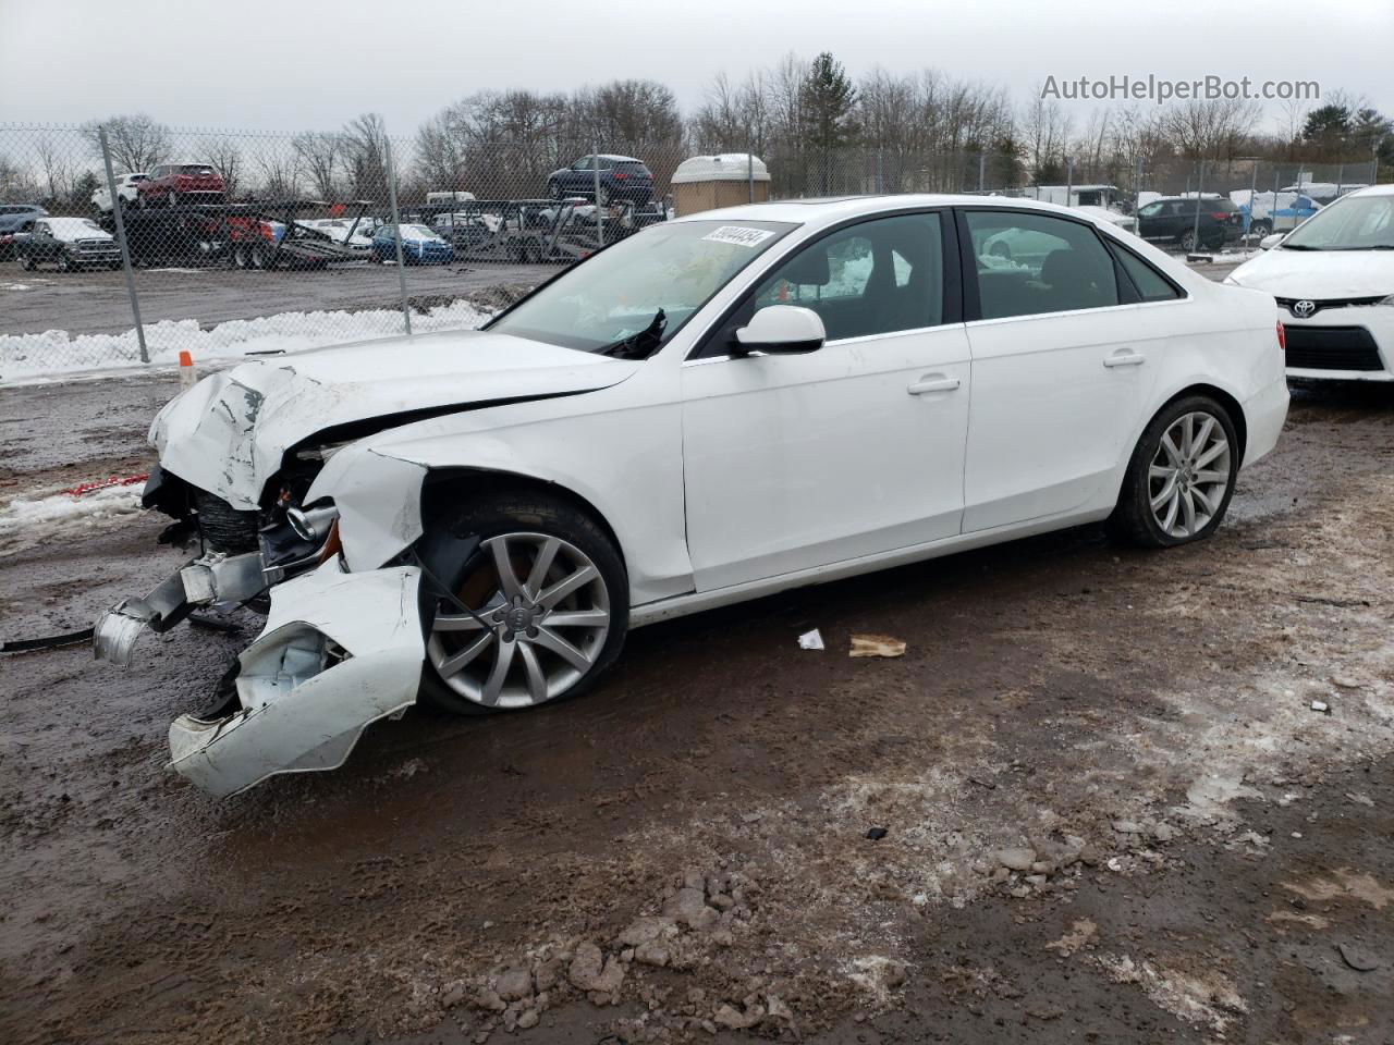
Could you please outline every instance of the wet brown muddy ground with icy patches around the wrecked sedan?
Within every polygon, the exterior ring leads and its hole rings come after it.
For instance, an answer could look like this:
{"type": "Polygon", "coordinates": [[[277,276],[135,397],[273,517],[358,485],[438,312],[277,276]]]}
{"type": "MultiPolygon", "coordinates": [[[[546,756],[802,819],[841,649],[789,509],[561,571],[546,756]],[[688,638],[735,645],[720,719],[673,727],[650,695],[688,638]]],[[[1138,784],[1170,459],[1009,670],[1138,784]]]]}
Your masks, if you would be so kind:
{"type": "MultiPolygon", "coordinates": [[[[145,467],[170,390],[0,390],[0,511],[145,467]]],[[[159,528],[0,534],[0,638],[144,591],[159,528]]],[[[0,1041],[1391,1041],[1391,553],[1394,394],[1331,389],[1202,545],[647,628],[581,701],[222,804],[164,729],[254,620],[0,658],[0,1041]]]]}

